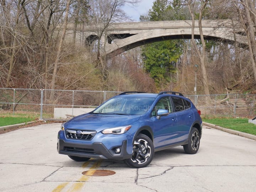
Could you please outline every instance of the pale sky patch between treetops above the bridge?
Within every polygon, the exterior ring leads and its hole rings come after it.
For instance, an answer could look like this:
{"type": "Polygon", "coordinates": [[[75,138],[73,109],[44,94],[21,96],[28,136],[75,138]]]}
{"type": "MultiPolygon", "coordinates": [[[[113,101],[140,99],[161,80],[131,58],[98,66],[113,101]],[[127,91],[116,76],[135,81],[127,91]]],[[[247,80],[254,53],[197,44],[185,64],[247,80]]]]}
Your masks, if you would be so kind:
{"type": "Polygon", "coordinates": [[[140,15],[148,13],[149,9],[152,8],[155,0],[141,0],[137,7],[124,6],[123,10],[130,16],[134,21],[139,21],[140,15]]]}

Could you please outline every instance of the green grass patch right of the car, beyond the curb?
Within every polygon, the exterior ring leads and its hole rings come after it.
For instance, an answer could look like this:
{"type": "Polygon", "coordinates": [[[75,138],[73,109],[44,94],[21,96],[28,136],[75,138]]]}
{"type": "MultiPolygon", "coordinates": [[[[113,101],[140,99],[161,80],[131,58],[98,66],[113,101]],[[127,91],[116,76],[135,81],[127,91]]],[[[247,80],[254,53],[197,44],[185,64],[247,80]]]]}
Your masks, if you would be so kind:
{"type": "Polygon", "coordinates": [[[253,123],[248,123],[247,118],[203,118],[203,122],[256,135],[256,125],[253,123]]]}

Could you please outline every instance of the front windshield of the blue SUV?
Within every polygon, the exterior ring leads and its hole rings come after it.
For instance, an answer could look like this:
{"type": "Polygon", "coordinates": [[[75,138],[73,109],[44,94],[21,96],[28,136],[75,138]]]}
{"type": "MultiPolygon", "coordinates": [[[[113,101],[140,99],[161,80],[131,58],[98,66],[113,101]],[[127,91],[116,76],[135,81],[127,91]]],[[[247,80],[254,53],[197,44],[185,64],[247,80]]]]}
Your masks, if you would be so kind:
{"type": "Polygon", "coordinates": [[[103,103],[93,113],[141,115],[149,110],[154,100],[154,97],[141,96],[114,97],[103,103]]]}

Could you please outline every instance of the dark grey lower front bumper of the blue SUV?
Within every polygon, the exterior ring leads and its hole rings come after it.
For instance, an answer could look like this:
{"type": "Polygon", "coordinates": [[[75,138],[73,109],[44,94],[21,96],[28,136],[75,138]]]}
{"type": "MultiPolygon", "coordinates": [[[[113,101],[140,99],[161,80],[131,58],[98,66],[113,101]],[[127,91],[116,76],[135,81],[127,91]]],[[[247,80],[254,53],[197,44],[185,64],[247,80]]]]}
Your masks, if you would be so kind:
{"type": "Polygon", "coordinates": [[[92,144],[77,144],[68,143],[65,142],[63,139],[58,139],[57,143],[58,153],[64,155],[115,160],[129,159],[132,157],[132,154],[127,153],[127,140],[124,140],[122,146],[118,147],[121,149],[121,152],[119,154],[116,154],[114,150],[108,150],[100,142],[95,142],[92,144]]]}

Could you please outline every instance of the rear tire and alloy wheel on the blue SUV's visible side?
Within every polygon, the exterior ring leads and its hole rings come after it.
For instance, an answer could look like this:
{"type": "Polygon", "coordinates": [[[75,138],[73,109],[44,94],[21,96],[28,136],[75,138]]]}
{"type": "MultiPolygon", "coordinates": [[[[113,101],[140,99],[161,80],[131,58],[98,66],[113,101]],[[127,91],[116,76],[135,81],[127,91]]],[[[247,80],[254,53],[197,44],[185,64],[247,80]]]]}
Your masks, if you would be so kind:
{"type": "Polygon", "coordinates": [[[183,145],[183,149],[187,154],[196,154],[200,145],[200,134],[197,128],[193,127],[188,137],[188,144],[183,145]]]}

